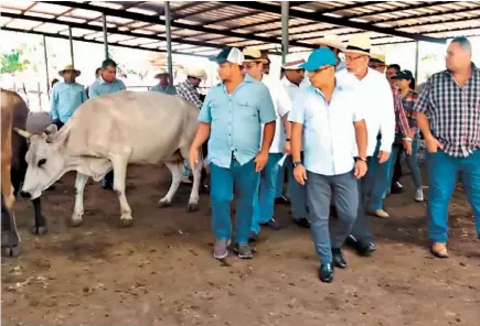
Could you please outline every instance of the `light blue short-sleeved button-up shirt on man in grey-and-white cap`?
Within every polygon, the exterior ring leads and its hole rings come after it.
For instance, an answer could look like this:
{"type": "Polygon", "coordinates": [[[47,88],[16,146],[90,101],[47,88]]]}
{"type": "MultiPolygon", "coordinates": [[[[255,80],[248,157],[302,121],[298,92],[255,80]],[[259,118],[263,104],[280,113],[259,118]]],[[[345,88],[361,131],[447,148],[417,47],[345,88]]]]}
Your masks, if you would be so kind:
{"type": "Polygon", "coordinates": [[[209,91],[199,121],[211,123],[209,163],[230,169],[232,156],[241,165],[260,150],[262,123],[277,119],[268,88],[248,75],[233,94],[223,83],[209,91]]]}

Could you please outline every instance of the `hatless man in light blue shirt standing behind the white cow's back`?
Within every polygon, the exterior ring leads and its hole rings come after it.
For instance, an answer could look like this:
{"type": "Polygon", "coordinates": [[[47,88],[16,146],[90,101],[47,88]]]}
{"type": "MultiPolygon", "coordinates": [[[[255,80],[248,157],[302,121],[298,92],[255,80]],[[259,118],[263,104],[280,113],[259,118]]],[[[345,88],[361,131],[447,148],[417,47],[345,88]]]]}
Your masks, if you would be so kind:
{"type": "MultiPolygon", "coordinates": [[[[102,63],[100,76],[88,89],[88,97],[94,98],[107,94],[125,90],[125,84],[120,79],[117,79],[117,63],[111,58],[107,58],[102,63]]],[[[102,180],[102,186],[104,189],[114,188],[114,171],[110,171],[102,180]]]]}

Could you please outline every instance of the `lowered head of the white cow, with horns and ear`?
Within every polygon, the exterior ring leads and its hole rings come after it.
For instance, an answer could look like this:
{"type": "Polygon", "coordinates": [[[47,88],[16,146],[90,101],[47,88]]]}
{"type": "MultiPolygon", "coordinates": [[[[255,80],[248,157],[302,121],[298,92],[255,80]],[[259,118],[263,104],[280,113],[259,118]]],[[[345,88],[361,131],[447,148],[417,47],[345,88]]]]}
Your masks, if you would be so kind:
{"type": "Polygon", "coordinates": [[[35,199],[65,172],[66,161],[62,153],[65,139],[61,134],[56,137],[55,124],[49,126],[42,134],[32,134],[18,128],[15,131],[30,140],[22,196],[35,199]]]}

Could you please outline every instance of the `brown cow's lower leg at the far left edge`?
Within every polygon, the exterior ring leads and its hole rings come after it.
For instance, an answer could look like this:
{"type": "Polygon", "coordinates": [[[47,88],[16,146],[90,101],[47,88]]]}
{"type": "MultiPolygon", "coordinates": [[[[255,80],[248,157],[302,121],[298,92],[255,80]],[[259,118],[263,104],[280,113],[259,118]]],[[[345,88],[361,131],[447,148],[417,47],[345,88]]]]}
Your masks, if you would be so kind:
{"type": "Polygon", "coordinates": [[[7,207],[3,194],[1,195],[1,256],[17,257],[20,254],[20,235],[17,229],[15,216],[7,207]]]}

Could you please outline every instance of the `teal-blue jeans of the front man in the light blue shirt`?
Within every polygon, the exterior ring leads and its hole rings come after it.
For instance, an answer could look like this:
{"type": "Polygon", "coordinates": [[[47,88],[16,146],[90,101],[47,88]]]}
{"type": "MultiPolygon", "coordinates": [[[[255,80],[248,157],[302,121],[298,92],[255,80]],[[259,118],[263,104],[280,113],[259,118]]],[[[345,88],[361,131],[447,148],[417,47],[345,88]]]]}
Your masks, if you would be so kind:
{"type": "Polygon", "coordinates": [[[210,164],[212,229],[218,240],[232,237],[230,204],[235,191],[236,242],[247,243],[254,213],[254,196],[258,187],[259,173],[255,172],[254,160],[241,165],[232,159],[230,169],[210,164]]]}

